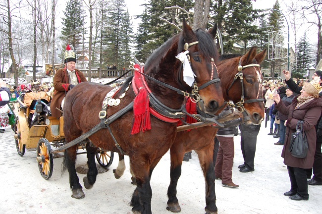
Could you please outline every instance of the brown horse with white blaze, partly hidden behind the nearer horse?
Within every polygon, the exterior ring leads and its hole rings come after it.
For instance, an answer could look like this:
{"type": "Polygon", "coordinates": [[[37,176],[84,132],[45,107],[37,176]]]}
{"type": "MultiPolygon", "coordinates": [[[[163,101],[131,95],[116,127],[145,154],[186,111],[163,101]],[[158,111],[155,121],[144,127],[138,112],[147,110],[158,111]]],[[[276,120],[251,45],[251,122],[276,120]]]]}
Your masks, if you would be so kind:
{"type": "MultiPolygon", "coordinates": [[[[222,91],[225,101],[233,101],[235,104],[245,99],[243,106],[250,117],[251,122],[260,124],[264,118],[264,103],[262,92],[262,74],[256,64],[260,64],[266,56],[266,50],[256,54],[256,48],[252,48],[245,55],[222,55],[218,62],[218,72],[221,80],[222,91]],[[252,65],[253,64],[253,65],[252,65]],[[255,65],[254,65],[255,64],[255,65]],[[250,65],[249,67],[247,65],[250,65]],[[238,72],[238,66],[242,66],[238,72]],[[236,73],[242,73],[242,82],[238,78],[233,82],[236,73]],[[243,93],[242,93],[243,91],[243,93]]],[[[198,154],[201,168],[206,181],[206,214],[216,214],[215,205],[215,171],[213,164],[214,138],[217,129],[213,126],[205,126],[192,129],[189,132],[178,132],[170,148],[171,167],[170,185],[168,187],[167,210],[178,213],[181,211],[176,197],[176,186],[181,175],[181,164],[186,152],[195,150],[198,154]]]]}

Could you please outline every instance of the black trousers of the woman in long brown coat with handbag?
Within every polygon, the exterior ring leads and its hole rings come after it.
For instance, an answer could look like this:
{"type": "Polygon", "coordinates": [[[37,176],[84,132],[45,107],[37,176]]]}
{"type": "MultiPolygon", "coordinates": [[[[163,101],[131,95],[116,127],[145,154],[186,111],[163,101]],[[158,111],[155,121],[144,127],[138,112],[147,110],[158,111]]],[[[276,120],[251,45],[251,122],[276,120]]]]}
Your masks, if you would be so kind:
{"type": "Polygon", "coordinates": [[[306,170],[298,167],[287,166],[288,175],[291,181],[291,192],[296,192],[302,198],[309,198],[308,180],[306,170]]]}

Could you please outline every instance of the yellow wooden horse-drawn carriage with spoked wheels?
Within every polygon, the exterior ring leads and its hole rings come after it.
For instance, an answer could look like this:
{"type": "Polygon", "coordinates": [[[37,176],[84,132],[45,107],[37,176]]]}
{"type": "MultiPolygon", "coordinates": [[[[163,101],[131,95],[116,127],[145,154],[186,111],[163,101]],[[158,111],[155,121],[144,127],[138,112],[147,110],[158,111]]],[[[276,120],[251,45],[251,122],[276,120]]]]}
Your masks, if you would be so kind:
{"type": "MultiPolygon", "coordinates": [[[[10,103],[15,123],[13,126],[15,146],[19,156],[27,150],[36,150],[36,158],[40,174],[49,179],[53,174],[53,159],[63,157],[64,151],[57,149],[65,145],[63,131],[63,117],[57,119],[51,116],[51,109],[46,100],[38,100],[35,109],[35,123],[29,126],[28,117],[30,109],[20,99],[10,103]]],[[[79,154],[86,154],[86,141],[78,144],[79,154]]],[[[98,163],[107,168],[111,165],[114,153],[98,149],[95,154],[98,163]]]]}

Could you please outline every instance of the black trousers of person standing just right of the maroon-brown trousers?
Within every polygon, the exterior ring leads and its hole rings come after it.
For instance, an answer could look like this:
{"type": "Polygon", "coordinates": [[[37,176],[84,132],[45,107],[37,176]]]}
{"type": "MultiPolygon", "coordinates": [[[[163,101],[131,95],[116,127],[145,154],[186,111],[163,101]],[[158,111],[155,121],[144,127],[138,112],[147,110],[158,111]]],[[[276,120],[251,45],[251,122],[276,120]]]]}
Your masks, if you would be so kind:
{"type": "Polygon", "coordinates": [[[243,153],[244,164],[251,169],[254,169],[254,159],[256,152],[257,135],[261,125],[245,125],[241,123],[240,129],[240,147],[243,153]]]}

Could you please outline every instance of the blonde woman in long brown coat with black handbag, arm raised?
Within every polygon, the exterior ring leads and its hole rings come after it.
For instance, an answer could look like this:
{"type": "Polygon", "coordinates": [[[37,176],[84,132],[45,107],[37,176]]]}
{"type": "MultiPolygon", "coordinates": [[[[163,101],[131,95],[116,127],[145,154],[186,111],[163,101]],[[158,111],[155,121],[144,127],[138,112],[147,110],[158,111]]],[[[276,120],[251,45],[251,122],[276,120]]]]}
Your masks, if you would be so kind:
{"type": "Polygon", "coordinates": [[[279,95],[274,95],[273,97],[278,111],[288,116],[285,122],[286,140],[281,156],[284,158],[284,164],[287,165],[291,189],[285,192],[284,195],[290,196],[290,199],[296,201],[309,200],[305,169],[312,168],[314,162],[317,135],[313,127],[319,119],[317,115],[321,115],[322,110],[322,97],[319,97],[320,89],[320,84],[316,80],[304,83],[301,95],[295,97],[292,104],[288,107],[283,104],[279,95]],[[303,130],[309,144],[308,154],[304,159],[292,156],[289,151],[292,133],[296,131],[297,122],[300,120],[303,121],[303,130]]]}

